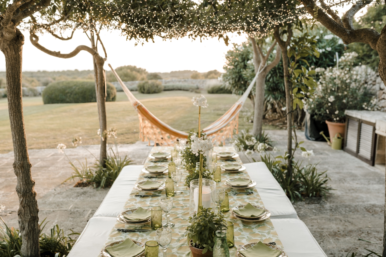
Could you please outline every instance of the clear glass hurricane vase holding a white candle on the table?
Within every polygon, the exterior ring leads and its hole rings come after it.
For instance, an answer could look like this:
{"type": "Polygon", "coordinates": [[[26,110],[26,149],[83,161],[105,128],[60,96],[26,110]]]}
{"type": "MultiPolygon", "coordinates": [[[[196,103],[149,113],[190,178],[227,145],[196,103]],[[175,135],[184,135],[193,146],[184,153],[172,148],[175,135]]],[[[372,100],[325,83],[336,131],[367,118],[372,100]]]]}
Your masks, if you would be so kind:
{"type": "MultiPolygon", "coordinates": [[[[189,214],[193,217],[198,210],[198,190],[199,179],[190,181],[190,199],[189,199],[189,214]]],[[[216,182],[214,180],[202,179],[202,207],[212,208],[216,206],[216,182]]]]}

